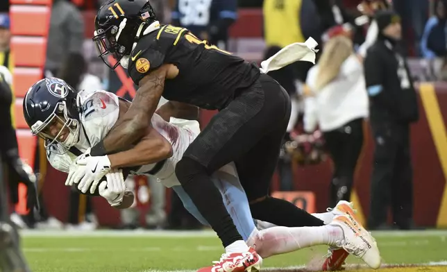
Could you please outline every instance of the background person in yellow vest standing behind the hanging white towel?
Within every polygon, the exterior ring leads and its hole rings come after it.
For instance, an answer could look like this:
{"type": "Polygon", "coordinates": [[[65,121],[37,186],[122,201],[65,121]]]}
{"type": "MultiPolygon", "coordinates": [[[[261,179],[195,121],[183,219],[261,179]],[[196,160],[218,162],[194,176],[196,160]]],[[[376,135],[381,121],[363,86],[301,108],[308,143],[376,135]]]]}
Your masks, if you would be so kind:
{"type": "MultiPolygon", "coordinates": [[[[312,0],[264,0],[262,13],[264,15],[264,39],[267,46],[264,60],[289,44],[305,42],[308,37],[319,40],[321,36],[320,20],[312,0]]],[[[278,160],[281,191],[294,189],[292,158],[285,151],[284,144],[292,140],[290,133],[295,128],[299,114],[298,83],[305,81],[310,67],[312,67],[311,62],[295,62],[282,69],[269,72],[269,76],[285,88],[292,103],[289,126],[287,126],[287,133],[278,160]]]]}

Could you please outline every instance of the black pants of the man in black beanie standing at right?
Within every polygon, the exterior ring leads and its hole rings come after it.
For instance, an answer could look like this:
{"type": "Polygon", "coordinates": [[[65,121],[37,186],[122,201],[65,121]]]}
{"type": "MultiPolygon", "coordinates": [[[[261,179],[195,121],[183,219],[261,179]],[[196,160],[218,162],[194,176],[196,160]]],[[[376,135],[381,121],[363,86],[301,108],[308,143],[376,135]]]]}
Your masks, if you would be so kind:
{"type": "Polygon", "coordinates": [[[371,177],[371,210],[368,226],[386,224],[388,207],[398,228],[410,228],[413,214],[413,174],[410,153],[410,126],[371,124],[376,149],[371,177]]]}

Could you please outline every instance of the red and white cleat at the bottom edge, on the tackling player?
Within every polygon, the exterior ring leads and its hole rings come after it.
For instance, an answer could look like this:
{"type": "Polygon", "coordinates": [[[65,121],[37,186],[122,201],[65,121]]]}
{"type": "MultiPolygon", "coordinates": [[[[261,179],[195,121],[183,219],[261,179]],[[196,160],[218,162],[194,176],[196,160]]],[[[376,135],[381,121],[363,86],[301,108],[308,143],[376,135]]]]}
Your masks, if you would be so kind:
{"type": "Polygon", "coordinates": [[[258,272],[262,257],[250,248],[244,253],[222,254],[221,260],[213,263],[213,266],[203,267],[197,272],[258,272]]]}

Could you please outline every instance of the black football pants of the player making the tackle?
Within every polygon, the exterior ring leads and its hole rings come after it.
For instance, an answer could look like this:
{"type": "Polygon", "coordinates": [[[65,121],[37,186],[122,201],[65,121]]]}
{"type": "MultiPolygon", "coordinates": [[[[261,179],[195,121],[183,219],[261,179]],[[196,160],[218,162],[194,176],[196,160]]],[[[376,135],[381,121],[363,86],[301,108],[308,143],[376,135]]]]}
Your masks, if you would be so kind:
{"type": "Polygon", "coordinates": [[[212,118],[178,162],[180,184],[223,246],[242,237],[210,173],[235,162],[248,201],[267,196],[289,117],[287,92],[270,76],[261,74],[251,87],[237,90],[235,99],[212,118]]]}

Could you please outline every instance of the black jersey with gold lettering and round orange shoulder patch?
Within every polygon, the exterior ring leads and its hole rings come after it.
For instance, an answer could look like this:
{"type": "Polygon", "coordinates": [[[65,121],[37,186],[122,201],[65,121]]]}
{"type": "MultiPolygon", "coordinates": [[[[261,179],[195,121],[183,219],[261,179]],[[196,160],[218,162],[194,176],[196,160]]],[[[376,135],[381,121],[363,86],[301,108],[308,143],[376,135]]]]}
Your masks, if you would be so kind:
{"type": "Polygon", "coordinates": [[[176,65],[180,71],[166,80],[165,99],[208,110],[225,108],[237,89],[251,86],[260,76],[256,65],[171,25],[140,38],[130,54],[128,74],[138,84],[163,64],[176,65]]]}

